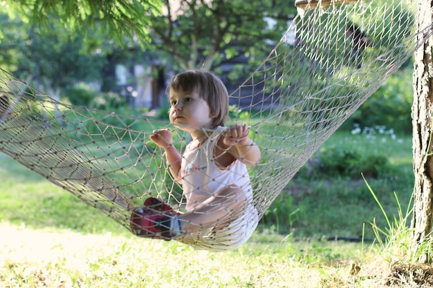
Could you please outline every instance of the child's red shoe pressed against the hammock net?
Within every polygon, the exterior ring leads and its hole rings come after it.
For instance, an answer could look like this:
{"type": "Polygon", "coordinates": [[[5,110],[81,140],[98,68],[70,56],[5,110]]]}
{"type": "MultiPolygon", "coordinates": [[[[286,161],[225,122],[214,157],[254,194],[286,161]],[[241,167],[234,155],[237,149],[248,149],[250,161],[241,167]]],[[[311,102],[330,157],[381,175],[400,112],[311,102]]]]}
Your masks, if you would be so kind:
{"type": "Polygon", "coordinates": [[[172,216],[169,214],[137,208],[132,212],[130,226],[136,236],[170,240],[171,221],[172,216]]]}

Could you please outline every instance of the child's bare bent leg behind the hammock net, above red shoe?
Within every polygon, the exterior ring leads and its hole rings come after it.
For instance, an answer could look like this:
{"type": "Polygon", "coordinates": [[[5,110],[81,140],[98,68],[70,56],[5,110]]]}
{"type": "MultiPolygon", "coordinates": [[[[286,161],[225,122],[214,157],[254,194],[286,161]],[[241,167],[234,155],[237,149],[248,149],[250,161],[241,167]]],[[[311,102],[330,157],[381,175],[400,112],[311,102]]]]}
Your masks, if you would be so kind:
{"type": "Polygon", "coordinates": [[[236,219],[246,209],[245,192],[230,185],[199,204],[193,211],[179,215],[182,231],[194,231],[201,227],[221,229],[236,219]]]}

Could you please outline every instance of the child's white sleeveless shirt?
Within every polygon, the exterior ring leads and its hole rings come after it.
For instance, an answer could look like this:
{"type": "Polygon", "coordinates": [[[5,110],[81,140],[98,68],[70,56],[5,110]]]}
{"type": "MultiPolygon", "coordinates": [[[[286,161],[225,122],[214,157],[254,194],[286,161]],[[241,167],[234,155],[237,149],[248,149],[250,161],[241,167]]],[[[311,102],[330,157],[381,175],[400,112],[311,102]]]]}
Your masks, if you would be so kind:
{"type": "Polygon", "coordinates": [[[230,184],[241,187],[246,193],[246,200],[252,201],[252,188],[246,164],[235,160],[230,166],[221,168],[215,163],[215,144],[224,130],[225,127],[219,126],[201,146],[193,141],[185,148],[181,176],[187,211],[191,211],[230,184]]]}

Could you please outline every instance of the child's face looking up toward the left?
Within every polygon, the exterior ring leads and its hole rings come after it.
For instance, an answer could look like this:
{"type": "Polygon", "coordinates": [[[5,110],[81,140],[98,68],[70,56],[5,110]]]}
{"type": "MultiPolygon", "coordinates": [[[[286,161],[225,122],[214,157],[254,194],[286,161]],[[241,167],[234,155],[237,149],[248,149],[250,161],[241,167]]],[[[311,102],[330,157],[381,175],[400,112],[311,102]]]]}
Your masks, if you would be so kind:
{"type": "MultiPolygon", "coordinates": [[[[169,119],[172,124],[214,128],[214,115],[211,115],[208,103],[195,91],[170,90],[169,102],[169,119]]],[[[179,128],[189,130],[187,127],[179,128]]]]}

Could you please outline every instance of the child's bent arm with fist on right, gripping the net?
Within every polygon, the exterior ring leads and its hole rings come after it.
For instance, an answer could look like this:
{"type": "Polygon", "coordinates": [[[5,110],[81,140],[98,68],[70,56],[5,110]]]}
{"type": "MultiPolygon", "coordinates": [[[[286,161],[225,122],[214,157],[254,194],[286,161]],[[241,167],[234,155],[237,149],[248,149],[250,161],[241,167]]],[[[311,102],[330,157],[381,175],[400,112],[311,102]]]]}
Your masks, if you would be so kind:
{"type": "Polygon", "coordinates": [[[244,164],[254,166],[259,162],[261,153],[259,146],[248,137],[249,130],[246,124],[229,126],[223,132],[222,148],[244,164]]]}

